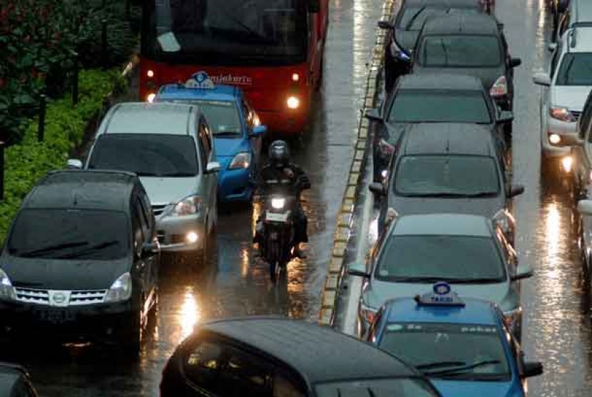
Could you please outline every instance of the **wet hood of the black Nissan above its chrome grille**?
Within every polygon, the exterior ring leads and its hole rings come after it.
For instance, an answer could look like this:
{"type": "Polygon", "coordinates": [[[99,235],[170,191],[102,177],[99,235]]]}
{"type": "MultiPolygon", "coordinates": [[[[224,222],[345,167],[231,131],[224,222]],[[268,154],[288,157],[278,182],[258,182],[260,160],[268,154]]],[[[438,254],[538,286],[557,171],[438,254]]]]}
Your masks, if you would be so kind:
{"type": "Polygon", "coordinates": [[[82,290],[108,289],[113,281],[130,271],[131,258],[117,261],[77,261],[19,258],[2,255],[1,268],[13,286],[25,288],[82,290]]]}

